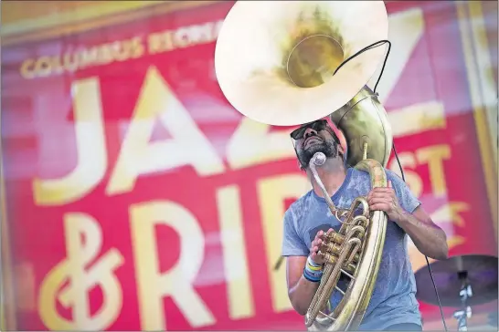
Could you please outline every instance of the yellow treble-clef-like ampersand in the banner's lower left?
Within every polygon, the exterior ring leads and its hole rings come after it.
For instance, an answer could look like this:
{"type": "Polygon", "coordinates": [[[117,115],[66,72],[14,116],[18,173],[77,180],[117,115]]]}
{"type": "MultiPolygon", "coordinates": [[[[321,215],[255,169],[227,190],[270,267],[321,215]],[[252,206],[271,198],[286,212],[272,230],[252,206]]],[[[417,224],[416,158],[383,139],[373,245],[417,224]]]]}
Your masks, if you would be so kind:
{"type": "Polygon", "coordinates": [[[95,261],[102,243],[99,224],[83,213],[70,213],[64,222],[67,257],[40,285],[40,318],[52,330],[104,330],[122,309],[122,286],[114,275],[123,264],[122,254],[113,248],[95,261]],[[92,315],[89,293],[96,285],[101,287],[103,300],[92,315]],[[72,308],[72,319],[58,313],[58,302],[72,308]]]}

